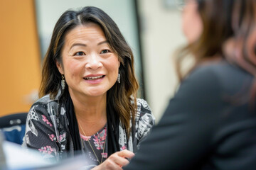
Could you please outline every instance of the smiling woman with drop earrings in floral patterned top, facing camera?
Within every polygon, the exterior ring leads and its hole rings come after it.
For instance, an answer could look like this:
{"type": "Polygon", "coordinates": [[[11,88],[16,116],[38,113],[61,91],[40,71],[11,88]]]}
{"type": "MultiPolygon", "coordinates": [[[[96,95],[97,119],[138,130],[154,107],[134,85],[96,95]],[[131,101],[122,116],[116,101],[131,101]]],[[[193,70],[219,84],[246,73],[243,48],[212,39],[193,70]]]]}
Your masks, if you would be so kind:
{"type": "Polygon", "coordinates": [[[41,98],[28,113],[23,146],[45,158],[81,151],[94,169],[122,169],[154,125],[137,89],[132,50],[112,18],[92,6],[65,11],[43,62],[41,98]]]}

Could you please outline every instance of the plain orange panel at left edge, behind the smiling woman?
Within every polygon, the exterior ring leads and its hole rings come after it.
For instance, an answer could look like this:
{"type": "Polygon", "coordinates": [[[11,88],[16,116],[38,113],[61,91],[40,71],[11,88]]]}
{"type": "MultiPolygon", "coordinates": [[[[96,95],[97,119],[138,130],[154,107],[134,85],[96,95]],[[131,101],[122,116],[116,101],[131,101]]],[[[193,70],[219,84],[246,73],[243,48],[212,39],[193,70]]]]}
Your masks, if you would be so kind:
{"type": "Polygon", "coordinates": [[[28,111],[41,77],[33,0],[1,0],[0,21],[1,116],[28,111]]]}

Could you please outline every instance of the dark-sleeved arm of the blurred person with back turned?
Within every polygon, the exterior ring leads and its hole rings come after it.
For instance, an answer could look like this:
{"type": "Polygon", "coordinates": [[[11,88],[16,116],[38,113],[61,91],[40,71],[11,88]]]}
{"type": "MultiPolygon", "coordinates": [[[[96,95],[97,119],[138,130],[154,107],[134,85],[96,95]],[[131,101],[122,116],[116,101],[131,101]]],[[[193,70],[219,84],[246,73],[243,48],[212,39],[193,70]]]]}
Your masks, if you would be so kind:
{"type": "Polygon", "coordinates": [[[124,169],[195,169],[210,152],[220,107],[215,74],[204,69],[194,72],[183,81],[159,124],[124,169]]]}

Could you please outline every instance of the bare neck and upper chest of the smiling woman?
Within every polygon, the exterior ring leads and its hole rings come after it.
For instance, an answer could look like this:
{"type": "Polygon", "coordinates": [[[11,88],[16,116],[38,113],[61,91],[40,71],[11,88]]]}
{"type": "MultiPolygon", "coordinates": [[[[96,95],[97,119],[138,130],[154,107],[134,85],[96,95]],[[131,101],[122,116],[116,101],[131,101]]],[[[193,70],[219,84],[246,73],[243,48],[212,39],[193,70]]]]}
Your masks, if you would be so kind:
{"type": "Polygon", "coordinates": [[[107,123],[107,95],[81,97],[70,94],[82,135],[94,135],[107,123]]]}

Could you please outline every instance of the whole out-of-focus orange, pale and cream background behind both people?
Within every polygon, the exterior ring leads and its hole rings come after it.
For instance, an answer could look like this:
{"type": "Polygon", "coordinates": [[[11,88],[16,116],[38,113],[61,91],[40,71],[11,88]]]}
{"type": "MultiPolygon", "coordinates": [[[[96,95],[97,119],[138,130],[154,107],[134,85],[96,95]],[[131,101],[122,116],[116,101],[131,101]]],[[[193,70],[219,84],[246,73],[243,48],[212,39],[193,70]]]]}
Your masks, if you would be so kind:
{"type": "Polygon", "coordinates": [[[177,85],[172,56],[186,43],[177,0],[0,0],[0,116],[28,112],[38,99],[41,64],[60,15],[97,6],[132,47],[139,96],[158,121],[177,85]]]}

